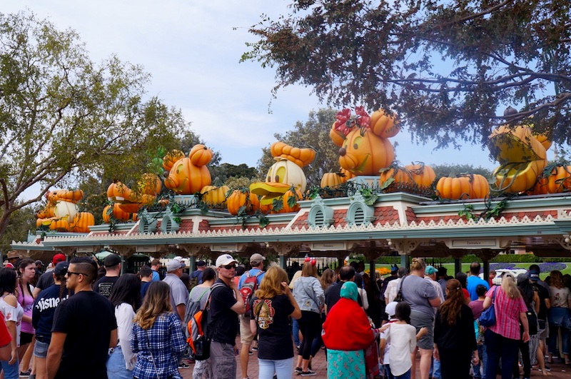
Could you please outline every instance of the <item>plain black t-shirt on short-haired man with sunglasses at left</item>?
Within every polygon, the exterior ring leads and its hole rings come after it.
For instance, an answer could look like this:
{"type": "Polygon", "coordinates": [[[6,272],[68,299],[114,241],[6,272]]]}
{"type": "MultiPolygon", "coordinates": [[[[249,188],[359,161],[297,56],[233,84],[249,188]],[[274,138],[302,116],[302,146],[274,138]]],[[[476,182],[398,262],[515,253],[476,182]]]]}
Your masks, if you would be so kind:
{"type": "Polygon", "coordinates": [[[56,379],[107,378],[109,340],[116,328],[113,305],[98,293],[81,291],[60,303],[51,331],[66,333],[66,341],[56,379]]]}

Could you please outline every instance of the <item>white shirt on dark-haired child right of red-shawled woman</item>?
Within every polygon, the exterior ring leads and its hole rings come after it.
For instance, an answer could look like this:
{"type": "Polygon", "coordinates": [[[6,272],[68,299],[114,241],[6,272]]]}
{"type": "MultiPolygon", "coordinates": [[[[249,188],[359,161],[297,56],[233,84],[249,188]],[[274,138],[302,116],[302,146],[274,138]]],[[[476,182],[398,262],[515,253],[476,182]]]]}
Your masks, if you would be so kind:
{"type": "Polygon", "coordinates": [[[392,323],[385,333],[387,343],[390,343],[390,372],[395,376],[403,375],[413,367],[410,353],[416,348],[416,328],[413,325],[392,323]]]}

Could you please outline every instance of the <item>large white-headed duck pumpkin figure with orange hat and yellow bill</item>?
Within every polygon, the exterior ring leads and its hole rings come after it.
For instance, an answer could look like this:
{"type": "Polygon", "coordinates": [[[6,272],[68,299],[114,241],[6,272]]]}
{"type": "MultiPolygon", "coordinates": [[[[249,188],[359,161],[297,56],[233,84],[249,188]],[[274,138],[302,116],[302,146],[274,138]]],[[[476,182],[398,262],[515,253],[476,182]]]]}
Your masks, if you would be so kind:
{"type": "MultiPolygon", "coordinates": [[[[315,151],[312,148],[295,148],[283,142],[273,143],[270,151],[276,163],[273,163],[268,170],[266,181],[250,185],[250,192],[261,196],[262,211],[273,211],[274,201],[281,201],[283,206],[278,211],[295,212],[296,207],[292,206],[292,201],[288,205],[285,204],[288,198],[293,198],[293,192],[287,198],[285,194],[292,191],[292,188],[293,191],[299,191],[299,193],[305,192],[307,179],[301,168],[313,161],[315,151]]],[[[302,196],[300,195],[298,198],[300,199],[302,196]]]]}

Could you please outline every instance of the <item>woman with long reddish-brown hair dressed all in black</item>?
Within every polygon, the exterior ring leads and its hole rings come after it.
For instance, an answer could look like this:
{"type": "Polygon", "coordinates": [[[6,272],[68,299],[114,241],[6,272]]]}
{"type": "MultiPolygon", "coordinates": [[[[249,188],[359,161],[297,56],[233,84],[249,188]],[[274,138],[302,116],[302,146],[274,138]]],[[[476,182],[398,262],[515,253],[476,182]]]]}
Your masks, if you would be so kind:
{"type": "Polygon", "coordinates": [[[470,358],[477,364],[474,317],[465,304],[460,282],[446,283],[446,300],[436,312],[434,358],[440,360],[442,379],[470,378],[470,358]]]}

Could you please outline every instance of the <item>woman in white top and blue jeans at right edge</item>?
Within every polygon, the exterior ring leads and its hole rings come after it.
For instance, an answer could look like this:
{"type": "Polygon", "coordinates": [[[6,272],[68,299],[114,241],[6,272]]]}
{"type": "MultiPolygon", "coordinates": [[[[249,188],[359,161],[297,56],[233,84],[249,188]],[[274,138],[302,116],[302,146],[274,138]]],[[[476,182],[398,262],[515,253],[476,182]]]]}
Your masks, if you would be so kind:
{"type": "Polygon", "coordinates": [[[547,344],[549,351],[548,362],[552,363],[553,354],[557,352],[558,335],[561,330],[561,345],[563,348],[563,356],[565,364],[569,365],[570,346],[569,346],[569,329],[567,329],[566,320],[570,318],[571,309],[571,291],[563,283],[561,271],[554,270],[550,273],[549,294],[551,298],[551,308],[549,310],[549,343],[547,344]]]}

